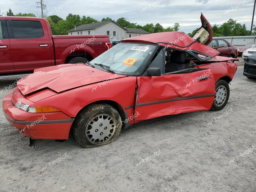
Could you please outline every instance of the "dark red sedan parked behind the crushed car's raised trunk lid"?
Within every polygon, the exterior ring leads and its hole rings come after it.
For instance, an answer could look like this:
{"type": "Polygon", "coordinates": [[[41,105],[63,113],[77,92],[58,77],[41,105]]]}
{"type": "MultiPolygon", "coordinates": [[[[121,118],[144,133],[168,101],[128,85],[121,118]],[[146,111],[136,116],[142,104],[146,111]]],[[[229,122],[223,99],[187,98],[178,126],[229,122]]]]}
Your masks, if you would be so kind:
{"type": "Polygon", "coordinates": [[[220,52],[219,56],[232,58],[238,57],[238,49],[225,39],[214,38],[208,46],[220,52]]]}

